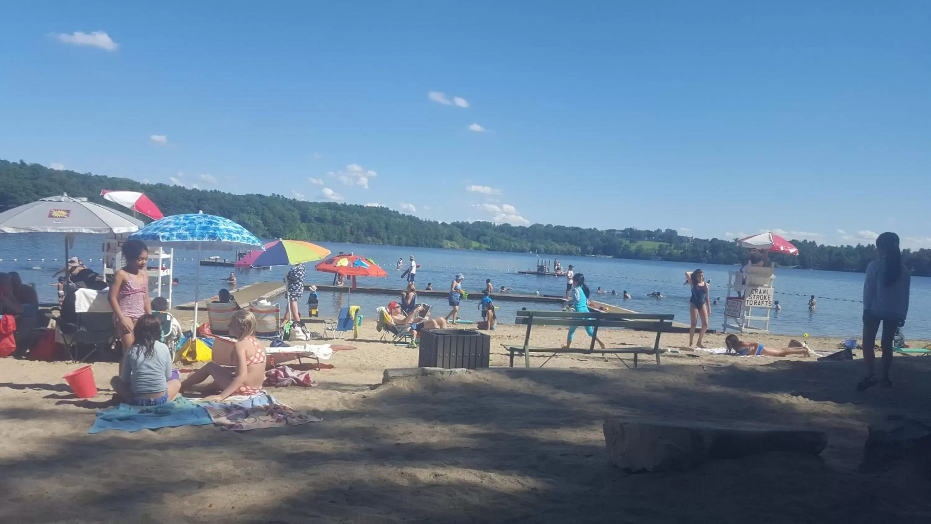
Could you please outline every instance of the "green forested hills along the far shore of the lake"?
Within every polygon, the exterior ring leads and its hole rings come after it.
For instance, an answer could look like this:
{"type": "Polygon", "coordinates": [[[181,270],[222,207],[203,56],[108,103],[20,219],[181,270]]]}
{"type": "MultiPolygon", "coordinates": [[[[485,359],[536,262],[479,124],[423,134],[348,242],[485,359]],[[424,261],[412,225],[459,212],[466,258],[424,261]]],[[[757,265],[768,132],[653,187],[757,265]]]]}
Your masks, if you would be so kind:
{"type": "MultiPolygon", "coordinates": [[[[623,259],[660,257],[667,261],[695,263],[739,263],[744,262],[746,256],[746,250],[738,248],[734,239],[695,238],[679,235],[672,229],[598,230],[552,224],[434,222],[388,208],[304,202],[282,195],[233,195],[55,170],[21,160],[0,160],[0,211],[61,193],[86,196],[116,208],[99,196],[104,189],[144,192],[166,215],[202,210],[228,217],[263,238],[623,259]]],[[[862,272],[877,257],[872,245],[827,246],[808,240],[792,240],[792,243],[799,248],[798,257],[775,254],[771,260],[805,269],[862,272]]],[[[915,275],[931,275],[931,249],[906,249],[903,261],[915,275]]]]}

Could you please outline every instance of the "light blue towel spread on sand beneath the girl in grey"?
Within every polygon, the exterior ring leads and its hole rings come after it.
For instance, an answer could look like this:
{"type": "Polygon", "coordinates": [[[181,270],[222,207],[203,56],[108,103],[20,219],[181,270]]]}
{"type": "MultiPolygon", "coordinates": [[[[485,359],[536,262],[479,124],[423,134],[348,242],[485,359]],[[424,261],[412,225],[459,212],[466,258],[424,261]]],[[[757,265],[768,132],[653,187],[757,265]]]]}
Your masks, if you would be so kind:
{"type": "Polygon", "coordinates": [[[134,433],[141,429],[211,423],[213,421],[205,408],[180,397],[174,402],[161,406],[143,407],[120,404],[110,410],[97,411],[97,419],[90,426],[88,433],[100,433],[108,429],[134,433]]]}

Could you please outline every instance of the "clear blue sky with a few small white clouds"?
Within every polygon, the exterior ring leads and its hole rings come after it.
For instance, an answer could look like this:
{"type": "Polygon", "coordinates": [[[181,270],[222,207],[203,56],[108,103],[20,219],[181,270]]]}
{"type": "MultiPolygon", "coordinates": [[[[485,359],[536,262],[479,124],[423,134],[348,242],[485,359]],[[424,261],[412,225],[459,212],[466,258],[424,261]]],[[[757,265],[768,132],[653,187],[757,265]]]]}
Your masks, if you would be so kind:
{"type": "Polygon", "coordinates": [[[442,221],[931,248],[927,2],[62,1],[3,18],[2,158],[442,221]]]}

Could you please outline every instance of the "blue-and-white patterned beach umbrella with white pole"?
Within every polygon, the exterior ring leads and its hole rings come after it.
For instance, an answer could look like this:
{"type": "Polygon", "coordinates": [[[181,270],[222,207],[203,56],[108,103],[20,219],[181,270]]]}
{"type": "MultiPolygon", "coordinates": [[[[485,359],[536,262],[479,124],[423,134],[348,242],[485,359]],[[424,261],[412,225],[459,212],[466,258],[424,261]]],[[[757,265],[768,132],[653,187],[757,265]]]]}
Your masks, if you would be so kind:
{"type": "Polygon", "coordinates": [[[209,249],[263,249],[262,241],[246,228],[223,217],[203,212],[172,215],[157,220],[129,235],[150,246],[196,249],[197,269],[194,280],[194,331],[197,330],[197,301],[200,298],[200,250],[209,249]]]}

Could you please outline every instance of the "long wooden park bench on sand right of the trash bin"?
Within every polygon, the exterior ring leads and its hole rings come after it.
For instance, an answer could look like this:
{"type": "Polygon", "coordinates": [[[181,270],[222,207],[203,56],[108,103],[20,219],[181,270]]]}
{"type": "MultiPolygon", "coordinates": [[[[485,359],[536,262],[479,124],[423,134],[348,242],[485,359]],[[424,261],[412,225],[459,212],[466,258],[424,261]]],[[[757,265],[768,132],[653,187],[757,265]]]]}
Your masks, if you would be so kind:
{"type": "MultiPolygon", "coordinates": [[[[581,353],[585,355],[591,354],[608,354],[612,353],[618,358],[620,355],[633,355],[634,356],[634,368],[637,367],[637,356],[638,355],[655,355],[656,356],[656,365],[659,365],[659,337],[662,335],[663,331],[668,331],[672,328],[672,318],[673,315],[646,315],[641,313],[601,313],[597,311],[591,311],[588,313],[576,313],[576,312],[562,312],[562,311],[519,311],[516,324],[527,326],[527,336],[524,337],[524,344],[522,346],[514,345],[508,346],[505,345],[505,349],[509,354],[510,367],[514,367],[514,355],[523,354],[524,356],[524,366],[530,368],[530,354],[531,353],[552,353],[549,358],[546,359],[546,362],[549,362],[549,359],[553,356],[557,356],[560,353],[581,353]],[[644,331],[655,331],[656,340],[653,344],[653,347],[624,347],[624,348],[610,348],[610,349],[595,349],[595,339],[591,339],[591,345],[588,349],[562,349],[556,347],[533,347],[530,345],[530,333],[533,326],[575,326],[578,328],[587,328],[592,327],[595,331],[595,336],[598,336],[599,328],[627,328],[627,329],[640,329],[644,331]]],[[[540,367],[546,366],[546,362],[543,363],[540,367]]]]}

